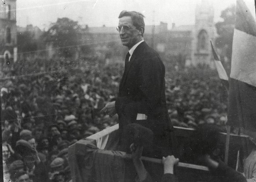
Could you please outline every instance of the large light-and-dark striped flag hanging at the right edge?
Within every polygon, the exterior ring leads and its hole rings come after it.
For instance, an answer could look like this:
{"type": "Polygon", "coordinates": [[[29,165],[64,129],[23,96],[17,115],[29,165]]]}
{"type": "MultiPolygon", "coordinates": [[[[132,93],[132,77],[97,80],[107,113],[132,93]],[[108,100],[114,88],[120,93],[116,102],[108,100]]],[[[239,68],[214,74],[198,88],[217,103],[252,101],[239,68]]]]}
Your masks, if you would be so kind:
{"type": "Polygon", "coordinates": [[[228,125],[256,132],[256,21],[237,0],[232,47],[228,125]]]}

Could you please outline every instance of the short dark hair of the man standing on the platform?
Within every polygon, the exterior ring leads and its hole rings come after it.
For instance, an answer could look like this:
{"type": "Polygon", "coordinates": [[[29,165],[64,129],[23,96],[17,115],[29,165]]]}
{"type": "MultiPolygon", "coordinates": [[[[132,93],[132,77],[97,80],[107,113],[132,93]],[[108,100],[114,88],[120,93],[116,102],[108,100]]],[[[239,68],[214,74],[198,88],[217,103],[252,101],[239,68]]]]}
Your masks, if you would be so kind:
{"type": "Polygon", "coordinates": [[[119,14],[118,18],[122,18],[122,17],[131,17],[132,18],[132,23],[133,25],[139,30],[139,28],[143,28],[143,32],[142,32],[142,36],[144,34],[145,31],[145,23],[144,23],[144,18],[145,17],[143,14],[141,14],[140,12],[137,11],[121,11],[121,13],[119,14]]]}

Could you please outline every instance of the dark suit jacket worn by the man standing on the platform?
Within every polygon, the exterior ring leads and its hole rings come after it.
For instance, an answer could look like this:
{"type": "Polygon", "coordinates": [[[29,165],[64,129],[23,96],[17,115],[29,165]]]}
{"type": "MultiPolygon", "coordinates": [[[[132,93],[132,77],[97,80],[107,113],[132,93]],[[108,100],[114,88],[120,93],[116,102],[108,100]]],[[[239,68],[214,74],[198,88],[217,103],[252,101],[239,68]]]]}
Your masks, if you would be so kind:
{"type": "Polygon", "coordinates": [[[115,108],[119,131],[129,123],[139,123],[154,132],[160,146],[166,145],[164,139],[169,138],[166,134],[173,126],[166,109],[165,66],[146,42],[138,45],[125,66],[115,108]],[[145,114],[147,119],[136,120],[138,113],[145,114]]]}

